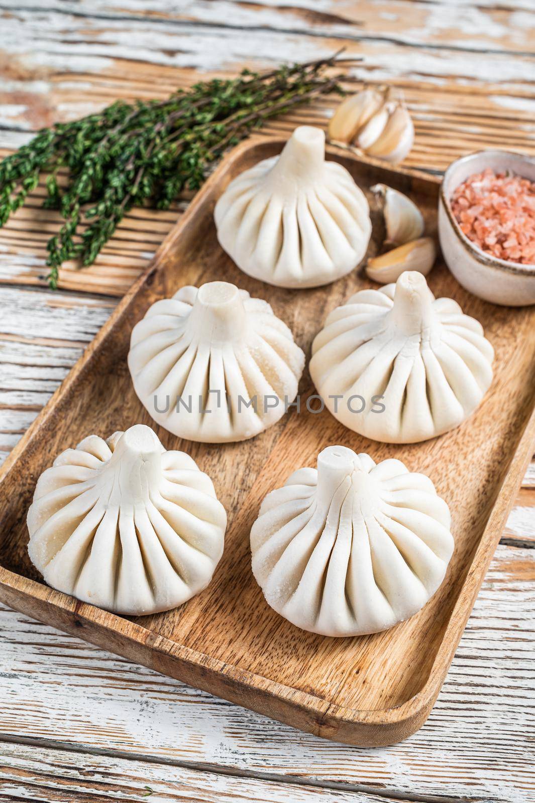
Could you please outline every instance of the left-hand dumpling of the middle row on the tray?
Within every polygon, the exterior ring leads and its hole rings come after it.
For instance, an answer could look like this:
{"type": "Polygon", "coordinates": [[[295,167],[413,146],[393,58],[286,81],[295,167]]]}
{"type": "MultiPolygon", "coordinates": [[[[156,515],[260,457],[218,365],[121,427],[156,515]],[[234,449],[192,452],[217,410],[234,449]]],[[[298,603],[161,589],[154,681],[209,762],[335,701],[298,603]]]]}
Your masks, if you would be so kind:
{"type": "Polygon", "coordinates": [[[191,441],[243,441],[297,395],[304,353],[267,301],[234,284],[182,287],[133,328],[129,369],[154,421],[191,441]]]}

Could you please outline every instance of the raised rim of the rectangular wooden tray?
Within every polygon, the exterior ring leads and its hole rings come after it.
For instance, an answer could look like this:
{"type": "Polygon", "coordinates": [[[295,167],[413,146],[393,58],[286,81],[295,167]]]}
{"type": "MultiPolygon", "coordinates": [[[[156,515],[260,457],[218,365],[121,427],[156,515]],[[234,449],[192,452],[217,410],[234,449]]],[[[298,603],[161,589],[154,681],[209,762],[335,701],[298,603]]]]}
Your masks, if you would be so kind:
{"type": "MultiPolygon", "coordinates": [[[[10,452],[4,465],[0,468],[0,493],[2,492],[3,480],[10,473],[14,464],[22,456],[27,446],[30,445],[31,440],[39,431],[40,426],[43,425],[51,414],[54,414],[55,405],[71,385],[74,385],[78,379],[78,375],[86,365],[92,361],[99,350],[100,344],[108,336],[108,332],[115,326],[117,320],[128,310],[134,296],[141,287],[149,280],[151,274],[157,271],[158,265],[165,254],[174,246],[174,243],[182,236],[182,232],[186,230],[190,223],[194,221],[198,209],[202,207],[206,198],[210,196],[214,185],[218,184],[220,176],[225,173],[235,161],[239,161],[243,152],[248,149],[259,148],[263,145],[268,145],[275,148],[282,149],[286,139],[283,137],[267,137],[255,135],[249,137],[227,153],[218,164],[214,172],[208,177],[201,190],[195,195],[192,202],[188,206],[182,218],[175,224],[158,247],[153,259],[151,259],[149,266],[139,275],[133,283],[129,291],[116,305],[112,315],[108,318],[106,323],[100,328],[96,336],[88,344],[84,353],[72,366],[67,374],[52,394],[43,410],[35,418],[34,422],[28,428],[27,432],[22,435],[20,441],[14,446],[10,452]]],[[[394,167],[394,165],[386,164],[384,161],[374,159],[372,157],[364,157],[357,155],[347,149],[341,149],[337,146],[327,145],[326,153],[331,155],[343,156],[349,160],[357,161],[358,163],[369,165],[370,167],[378,167],[383,170],[396,173],[398,175],[406,176],[412,179],[418,179],[423,183],[437,185],[437,189],[441,184],[442,177],[436,176],[431,173],[426,173],[423,170],[410,169],[405,167],[394,167]]],[[[438,198],[438,191],[437,191],[438,198]]],[[[254,672],[240,669],[238,666],[223,662],[218,658],[212,658],[208,654],[200,653],[198,650],[193,650],[183,644],[178,644],[165,636],[149,630],[137,622],[131,622],[129,619],[120,617],[114,613],[109,613],[100,608],[96,608],[85,602],[80,602],[74,597],[49,588],[39,582],[33,581],[28,577],[24,577],[18,573],[11,572],[0,565],[0,599],[6,601],[7,605],[18,608],[22,604],[22,612],[27,613],[26,605],[24,602],[38,600],[44,604],[44,609],[57,613],[59,615],[60,623],[54,618],[53,626],[59,629],[69,630],[67,627],[68,622],[63,622],[64,614],[71,615],[71,627],[78,628],[76,634],[86,641],[99,643],[99,640],[93,640],[95,635],[93,633],[84,633],[84,624],[94,628],[96,633],[100,634],[113,634],[116,639],[120,637],[120,646],[126,651],[129,657],[128,647],[136,647],[146,650],[147,654],[137,655],[132,658],[139,663],[149,666],[149,668],[159,670],[154,665],[153,656],[155,654],[164,658],[169,658],[171,666],[178,665],[178,670],[182,670],[189,666],[191,669],[202,670],[202,673],[207,673],[208,677],[226,679],[231,682],[231,687],[214,691],[214,687],[209,682],[204,682],[203,675],[191,685],[202,688],[204,691],[209,691],[214,695],[231,700],[231,702],[243,705],[243,699],[234,695],[232,691],[234,688],[243,687],[247,685],[251,691],[255,691],[259,695],[259,700],[265,703],[267,699],[278,699],[283,704],[283,708],[276,716],[271,712],[265,711],[264,707],[252,701],[246,707],[251,710],[259,711],[260,713],[267,714],[272,718],[280,719],[280,721],[287,722],[292,727],[302,727],[304,730],[314,732],[318,736],[324,736],[336,741],[342,741],[347,744],[366,744],[366,745],[384,745],[394,744],[394,742],[410,736],[418,730],[429,715],[435,700],[439,694],[440,688],[446,678],[447,671],[454,657],[455,650],[459,644],[460,638],[464,632],[468,618],[472,613],[473,605],[476,601],[477,594],[479,593],[480,586],[484,580],[488,565],[492,560],[493,553],[496,545],[500,540],[501,533],[504,528],[505,520],[513,507],[516,492],[521,486],[521,480],[525,474],[525,470],[529,464],[532,456],[533,442],[535,442],[535,399],[533,401],[533,410],[525,424],[521,438],[518,442],[517,449],[513,454],[511,463],[504,476],[504,480],[500,486],[500,490],[496,495],[496,499],[492,505],[492,512],[488,518],[488,522],[484,528],[484,532],[480,537],[480,542],[477,545],[476,552],[472,558],[471,565],[468,569],[467,576],[459,591],[459,596],[455,601],[455,605],[451,610],[449,621],[447,622],[446,630],[444,631],[442,641],[435,654],[435,659],[431,665],[429,675],[423,687],[410,699],[404,703],[390,708],[381,709],[360,709],[342,707],[336,703],[329,703],[328,700],[316,695],[308,694],[307,692],[300,691],[284,683],[265,678],[263,675],[255,674],[254,672]],[[63,615],[62,615],[63,614],[63,615]],[[108,622],[102,622],[100,619],[103,617],[108,619],[108,622]],[[62,623],[63,622],[63,623],[62,623]],[[82,627],[80,627],[82,625],[82,627]],[[92,638],[93,637],[93,638],[92,638]],[[152,656],[152,658],[151,658],[152,656]],[[145,660],[143,659],[145,658],[145,660]],[[299,699],[292,699],[294,695],[298,695],[299,699]],[[296,726],[290,719],[290,715],[297,710],[303,711],[308,717],[307,721],[301,726],[296,726]],[[284,716],[284,712],[287,713],[284,716]],[[311,727],[311,724],[314,727],[311,727]],[[340,726],[342,726],[341,729],[340,726]],[[380,736],[376,730],[384,726],[390,727],[390,737],[385,739],[385,736],[380,736]],[[362,729],[367,734],[366,739],[361,739],[362,729]],[[355,737],[357,737],[355,739],[355,737]]],[[[27,613],[34,618],[35,612],[27,613]]],[[[41,621],[48,622],[47,618],[41,621]]],[[[121,653],[116,649],[116,645],[112,647],[104,646],[116,654],[121,653]]],[[[162,671],[162,674],[169,674],[169,672],[162,671]]],[[[183,679],[183,671],[178,671],[177,675],[171,675],[176,679],[183,679]],[[182,677],[181,677],[182,674],[182,677]]],[[[183,681],[190,683],[190,680],[183,681]]]]}

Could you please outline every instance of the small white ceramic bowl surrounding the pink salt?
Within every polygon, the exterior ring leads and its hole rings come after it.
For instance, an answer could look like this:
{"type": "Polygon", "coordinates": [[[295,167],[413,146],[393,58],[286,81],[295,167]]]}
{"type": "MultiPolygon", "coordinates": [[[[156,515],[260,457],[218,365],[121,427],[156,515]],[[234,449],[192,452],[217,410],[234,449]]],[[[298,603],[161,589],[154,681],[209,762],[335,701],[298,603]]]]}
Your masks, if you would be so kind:
{"type": "Polygon", "coordinates": [[[496,173],[510,170],[535,181],[535,160],[520,153],[478,151],[452,162],[444,173],[439,199],[439,240],[444,259],[459,284],[474,296],[507,307],[535,304],[535,265],[506,262],[485,253],[463,234],[451,212],[455,188],[486,167],[496,173]]]}

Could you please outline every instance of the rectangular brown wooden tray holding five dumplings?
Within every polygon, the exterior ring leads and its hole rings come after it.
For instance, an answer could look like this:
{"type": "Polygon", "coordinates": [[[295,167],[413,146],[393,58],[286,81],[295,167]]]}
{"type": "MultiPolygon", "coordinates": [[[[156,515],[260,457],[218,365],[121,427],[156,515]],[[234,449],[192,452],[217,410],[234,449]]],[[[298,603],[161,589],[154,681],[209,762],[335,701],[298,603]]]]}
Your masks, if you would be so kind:
{"type": "MultiPolygon", "coordinates": [[[[227,508],[225,553],[214,580],[181,608],[123,618],[43,585],[27,556],[26,514],[41,471],[87,434],[107,437],[152,424],[126,366],[133,324],[154,300],[184,284],[226,279],[267,299],[309,355],[329,310],[357,288],[353,271],[327,287],[288,291],[249,279],[218,246],[214,202],[243,169],[284,143],[251,140],[235,149],[165,239],[132,287],[7,459],[0,479],[0,599],[28,616],[210,691],[254,711],[359,745],[392,744],[421,727],[443,683],[500,538],[535,439],[535,308],[485,304],[459,287],[442,264],[430,275],[435,296],[451,296],[484,325],[496,349],[496,376],[480,409],[435,440],[391,446],[346,430],[326,411],[288,413],[252,441],[224,446],[183,442],[154,426],[167,448],[184,449],[214,480],[227,508]],[[290,472],[316,464],[341,443],[375,460],[402,459],[429,475],[453,513],[455,553],[435,597],[408,622],[361,638],[325,638],[298,630],[270,609],[251,574],[249,530],[267,491],[290,472]]],[[[366,191],[378,181],[410,194],[436,226],[439,179],[357,160],[340,161],[366,191]]],[[[382,238],[374,214],[374,242],[382,238]]],[[[300,393],[311,392],[305,373],[300,393]]]]}

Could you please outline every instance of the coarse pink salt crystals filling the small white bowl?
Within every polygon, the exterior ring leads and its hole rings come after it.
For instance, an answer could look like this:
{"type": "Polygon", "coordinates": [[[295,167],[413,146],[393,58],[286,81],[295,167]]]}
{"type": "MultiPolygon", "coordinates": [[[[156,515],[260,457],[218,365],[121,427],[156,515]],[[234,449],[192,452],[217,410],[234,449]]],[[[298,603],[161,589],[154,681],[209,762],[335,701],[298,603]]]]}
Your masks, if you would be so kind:
{"type": "Polygon", "coordinates": [[[535,264],[535,183],[487,168],[459,185],[451,210],[460,230],[499,259],[535,264]]]}

